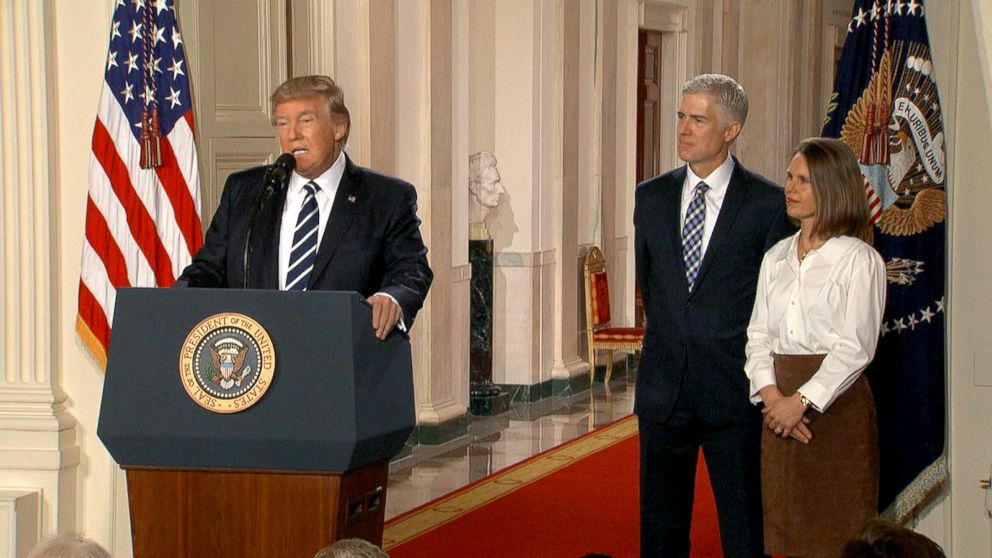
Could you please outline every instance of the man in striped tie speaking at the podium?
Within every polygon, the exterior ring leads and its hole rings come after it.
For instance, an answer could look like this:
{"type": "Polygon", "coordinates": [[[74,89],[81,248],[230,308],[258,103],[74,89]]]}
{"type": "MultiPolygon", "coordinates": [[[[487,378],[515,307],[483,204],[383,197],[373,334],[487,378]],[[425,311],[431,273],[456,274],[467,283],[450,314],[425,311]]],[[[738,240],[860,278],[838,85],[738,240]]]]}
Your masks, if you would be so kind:
{"type": "Polygon", "coordinates": [[[270,167],[232,174],[203,247],[176,285],[357,291],[372,305],[378,338],[397,324],[407,330],[434,277],[416,190],[352,163],[343,151],[351,117],[331,78],[290,79],[271,102],[279,144],[295,170],[275,181],[269,196],[270,167]]]}

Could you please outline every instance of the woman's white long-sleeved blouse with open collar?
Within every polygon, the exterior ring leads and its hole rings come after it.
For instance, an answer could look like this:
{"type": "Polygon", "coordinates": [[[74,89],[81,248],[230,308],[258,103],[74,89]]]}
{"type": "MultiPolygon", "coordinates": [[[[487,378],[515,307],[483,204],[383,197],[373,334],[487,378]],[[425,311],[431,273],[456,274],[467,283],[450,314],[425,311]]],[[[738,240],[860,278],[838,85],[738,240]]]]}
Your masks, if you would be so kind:
{"type": "Polygon", "coordinates": [[[885,308],[885,261],[861,240],[840,236],[800,263],[798,242],[799,233],[779,241],[761,262],[744,372],[751,402],[759,403],[761,388],[776,383],[773,353],[826,354],[798,390],[823,412],[875,355],[885,308]]]}

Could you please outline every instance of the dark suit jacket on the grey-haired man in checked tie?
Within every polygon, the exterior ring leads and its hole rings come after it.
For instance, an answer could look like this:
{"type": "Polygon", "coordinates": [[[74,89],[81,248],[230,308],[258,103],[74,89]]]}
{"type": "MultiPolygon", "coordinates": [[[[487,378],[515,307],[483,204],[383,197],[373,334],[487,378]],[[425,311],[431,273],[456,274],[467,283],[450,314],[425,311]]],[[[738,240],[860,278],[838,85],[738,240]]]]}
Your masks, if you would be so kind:
{"type": "Polygon", "coordinates": [[[637,187],[634,250],[646,324],[634,412],[644,420],[664,423],[676,402],[713,425],[755,412],[744,345],[758,271],[765,251],[795,228],[782,188],[734,162],[691,294],[680,230],[686,167],[637,187]]]}

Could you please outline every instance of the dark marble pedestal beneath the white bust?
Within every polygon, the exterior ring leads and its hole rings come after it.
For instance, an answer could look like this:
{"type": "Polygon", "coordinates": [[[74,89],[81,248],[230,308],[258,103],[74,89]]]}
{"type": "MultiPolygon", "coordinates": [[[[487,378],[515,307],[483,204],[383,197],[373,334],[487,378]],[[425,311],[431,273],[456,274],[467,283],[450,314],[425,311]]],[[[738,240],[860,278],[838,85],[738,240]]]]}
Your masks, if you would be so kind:
{"type": "Polygon", "coordinates": [[[468,244],[472,265],[469,403],[473,415],[491,416],[510,405],[510,395],[493,383],[493,241],[473,238],[468,244]]]}

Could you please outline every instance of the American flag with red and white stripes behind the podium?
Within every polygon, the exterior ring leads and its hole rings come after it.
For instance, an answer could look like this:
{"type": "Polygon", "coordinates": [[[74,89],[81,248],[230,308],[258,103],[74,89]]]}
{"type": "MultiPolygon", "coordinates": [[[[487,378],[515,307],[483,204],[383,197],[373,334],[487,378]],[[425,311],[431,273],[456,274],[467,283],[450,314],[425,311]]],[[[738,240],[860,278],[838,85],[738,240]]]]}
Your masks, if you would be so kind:
{"type": "Polygon", "coordinates": [[[119,287],[167,287],[203,242],[189,68],[171,0],[117,0],[93,128],[76,331],[106,365],[119,287]]]}

